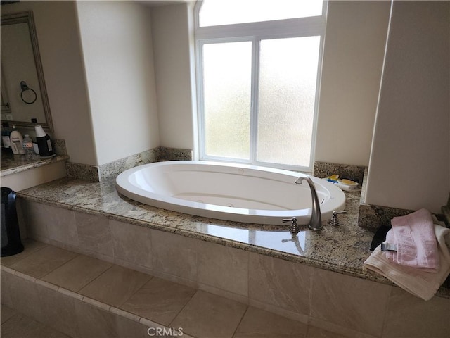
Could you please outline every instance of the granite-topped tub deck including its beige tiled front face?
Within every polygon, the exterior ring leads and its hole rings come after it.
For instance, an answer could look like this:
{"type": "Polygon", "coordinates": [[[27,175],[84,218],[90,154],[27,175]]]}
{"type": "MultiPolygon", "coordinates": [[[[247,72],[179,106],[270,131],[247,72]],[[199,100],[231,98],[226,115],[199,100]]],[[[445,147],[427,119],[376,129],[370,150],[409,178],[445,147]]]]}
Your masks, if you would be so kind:
{"type": "MultiPolygon", "coordinates": [[[[364,270],[373,232],[346,192],[340,227],[301,231],[174,213],[115,180],[64,178],[18,192],[28,236],[348,337],[448,337],[449,290],[422,301],[364,270]]],[[[302,336],[300,336],[302,337],[302,336]]]]}

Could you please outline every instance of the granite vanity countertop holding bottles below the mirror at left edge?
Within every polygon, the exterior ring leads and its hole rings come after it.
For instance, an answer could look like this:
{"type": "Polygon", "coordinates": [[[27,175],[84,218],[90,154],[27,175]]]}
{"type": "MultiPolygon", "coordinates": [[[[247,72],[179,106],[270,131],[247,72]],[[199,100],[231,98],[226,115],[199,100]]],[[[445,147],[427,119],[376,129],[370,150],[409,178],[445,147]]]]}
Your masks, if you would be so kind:
{"type": "Polygon", "coordinates": [[[13,155],[1,151],[1,172],[0,177],[21,173],[32,168],[39,168],[42,165],[68,160],[67,155],[56,155],[51,157],[40,157],[37,155],[32,160],[26,160],[25,155],[13,155]]]}

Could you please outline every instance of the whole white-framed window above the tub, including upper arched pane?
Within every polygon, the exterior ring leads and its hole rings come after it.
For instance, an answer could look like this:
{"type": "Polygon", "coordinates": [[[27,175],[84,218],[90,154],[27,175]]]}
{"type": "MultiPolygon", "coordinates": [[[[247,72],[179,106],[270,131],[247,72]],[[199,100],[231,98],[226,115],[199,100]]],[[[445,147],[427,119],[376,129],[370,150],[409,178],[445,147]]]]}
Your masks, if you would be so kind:
{"type": "Polygon", "coordinates": [[[311,171],[326,2],[195,8],[200,159],[311,171]]]}

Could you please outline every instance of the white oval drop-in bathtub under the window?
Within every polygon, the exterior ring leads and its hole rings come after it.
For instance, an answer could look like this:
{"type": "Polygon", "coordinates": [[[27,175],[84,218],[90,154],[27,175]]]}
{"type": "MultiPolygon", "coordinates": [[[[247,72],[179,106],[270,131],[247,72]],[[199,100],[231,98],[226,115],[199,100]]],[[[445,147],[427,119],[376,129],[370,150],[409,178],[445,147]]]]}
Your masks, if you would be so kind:
{"type": "MultiPolygon", "coordinates": [[[[205,161],[167,161],[125,170],[117,176],[120,194],[143,204],[180,213],[243,223],[281,225],[311,217],[311,191],[304,174],[253,165],[205,161]]],[[[345,194],[330,182],[311,177],[322,220],[345,206],[345,194]]]]}

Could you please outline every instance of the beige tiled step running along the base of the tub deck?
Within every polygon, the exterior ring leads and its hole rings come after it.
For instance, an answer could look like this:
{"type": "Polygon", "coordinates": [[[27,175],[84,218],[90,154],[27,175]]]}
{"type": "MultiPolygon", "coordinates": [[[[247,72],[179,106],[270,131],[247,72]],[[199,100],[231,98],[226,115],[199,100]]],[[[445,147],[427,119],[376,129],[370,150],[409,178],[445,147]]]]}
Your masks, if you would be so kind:
{"type": "Polygon", "coordinates": [[[342,337],[56,246],[24,244],[23,253],[1,258],[1,303],[70,337],[342,337]]]}

